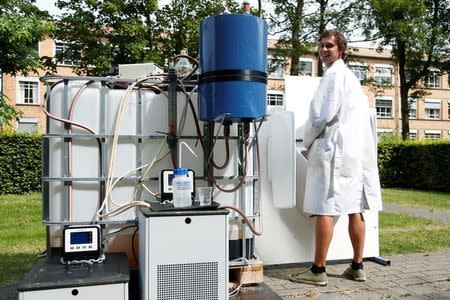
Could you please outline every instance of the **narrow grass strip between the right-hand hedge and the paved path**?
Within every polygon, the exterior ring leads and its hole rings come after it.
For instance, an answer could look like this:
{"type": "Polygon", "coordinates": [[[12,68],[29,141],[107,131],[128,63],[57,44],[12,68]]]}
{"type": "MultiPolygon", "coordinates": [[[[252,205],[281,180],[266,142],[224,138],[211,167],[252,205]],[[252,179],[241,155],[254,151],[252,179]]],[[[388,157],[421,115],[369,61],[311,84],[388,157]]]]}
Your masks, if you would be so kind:
{"type": "Polygon", "coordinates": [[[383,188],[382,195],[388,203],[450,211],[450,193],[383,188]]]}

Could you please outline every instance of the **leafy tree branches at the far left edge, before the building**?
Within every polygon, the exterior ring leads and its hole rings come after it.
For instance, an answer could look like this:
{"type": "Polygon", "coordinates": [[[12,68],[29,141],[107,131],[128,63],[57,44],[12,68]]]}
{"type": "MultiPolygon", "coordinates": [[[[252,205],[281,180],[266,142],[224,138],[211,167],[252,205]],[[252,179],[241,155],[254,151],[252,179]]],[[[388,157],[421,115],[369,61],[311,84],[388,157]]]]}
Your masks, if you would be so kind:
{"type": "MultiPolygon", "coordinates": [[[[27,75],[48,66],[48,58],[39,57],[36,44],[53,32],[48,13],[40,11],[34,0],[0,2],[0,72],[27,75]]],[[[6,103],[0,92],[0,130],[20,112],[6,103]]]]}

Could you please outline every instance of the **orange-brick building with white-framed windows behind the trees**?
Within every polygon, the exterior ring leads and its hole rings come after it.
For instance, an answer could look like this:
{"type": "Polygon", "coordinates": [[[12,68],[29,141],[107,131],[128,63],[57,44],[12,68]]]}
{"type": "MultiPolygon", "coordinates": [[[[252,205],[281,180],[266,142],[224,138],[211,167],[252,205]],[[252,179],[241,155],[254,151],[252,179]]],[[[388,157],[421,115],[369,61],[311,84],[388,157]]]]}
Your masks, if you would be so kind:
{"type": "MultiPolygon", "coordinates": [[[[268,64],[274,63],[270,55],[273,52],[275,40],[269,40],[268,64]]],[[[54,56],[62,51],[64,44],[46,39],[39,42],[41,56],[54,56]]],[[[353,60],[349,62],[350,68],[361,81],[373,78],[376,82],[390,85],[381,93],[375,94],[370,85],[364,85],[369,96],[370,105],[375,107],[378,115],[379,133],[400,133],[400,89],[397,66],[393,64],[389,52],[377,52],[374,49],[358,48],[352,51],[353,60]]],[[[302,76],[317,76],[317,60],[314,54],[301,58],[302,76]]],[[[73,74],[71,61],[58,63],[59,75],[73,74]]],[[[269,105],[284,106],[284,76],[288,66],[279,67],[269,73],[268,103],[269,105]]],[[[44,101],[46,87],[39,81],[39,74],[30,74],[27,77],[12,77],[3,74],[0,77],[3,93],[8,97],[10,104],[23,112],[22,118],[15,125],[18,131],[45,131],[45,115],[40,105],[44,101]]],[[[448,74],[441,74],[434,70],[425,79],[427,95],[424,99],[411,105],[410,135],[411,138],[442,138],[450,139],[450,78],[448,74]]]]}

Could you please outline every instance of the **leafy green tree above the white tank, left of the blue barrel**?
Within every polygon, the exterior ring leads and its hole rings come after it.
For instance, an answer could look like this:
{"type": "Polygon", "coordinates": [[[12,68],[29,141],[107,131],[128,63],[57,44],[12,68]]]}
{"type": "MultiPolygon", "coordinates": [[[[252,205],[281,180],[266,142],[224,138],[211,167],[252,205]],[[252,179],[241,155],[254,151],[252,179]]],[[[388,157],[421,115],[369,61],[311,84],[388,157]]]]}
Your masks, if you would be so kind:
{"type": "MultiPolygon", "coordinates": [[[[102,76],[118,64],[155,62],[188,49],[198,54],[200,20],[220,11],[220,0],[58,0],[65,11],[56,37],[66,42],[58,59],[75,62],[78,74],[102,76]]],[[[228,9],[236,3],[227,0],[228,9]]]]}

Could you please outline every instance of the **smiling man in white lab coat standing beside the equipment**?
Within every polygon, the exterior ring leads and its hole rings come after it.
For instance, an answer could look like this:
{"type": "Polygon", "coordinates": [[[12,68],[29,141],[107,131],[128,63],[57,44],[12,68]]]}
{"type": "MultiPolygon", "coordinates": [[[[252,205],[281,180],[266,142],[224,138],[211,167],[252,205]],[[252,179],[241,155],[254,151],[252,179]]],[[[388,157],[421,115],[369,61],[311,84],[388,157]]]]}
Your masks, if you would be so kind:
{"type": "Polygon", "coordinates": [[[328,283],[325,265],[333,216],[348,215],[354,255],[345,274],[364,281],[362,212],[382,207],[376,137],[367,96],[343,61],[347,49],[344,36],[329,30],[319,41],[326,71],[312,99],[303,140],[309,150],[303,209],[316,216],[315,257],[311,269],[294,273],[290,279],[314,285],[328,283]]]}

